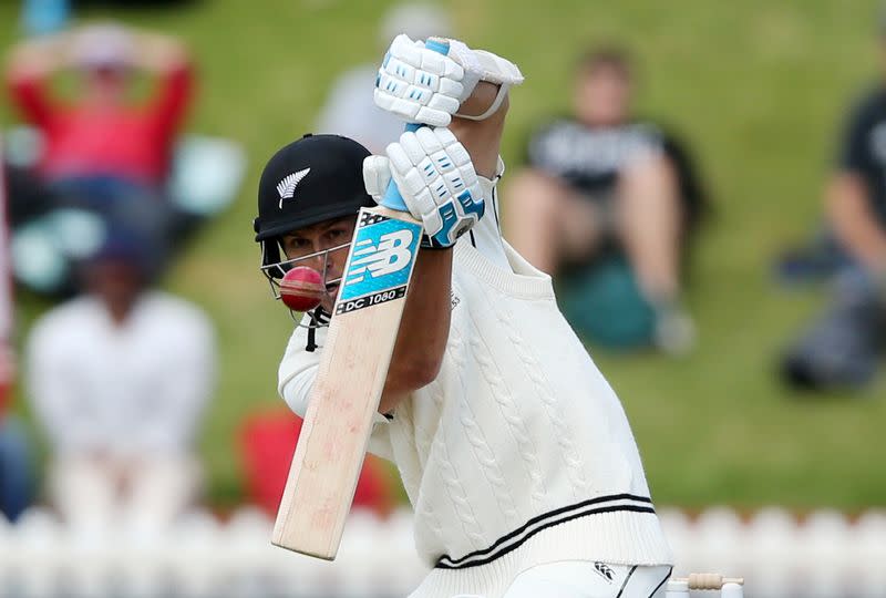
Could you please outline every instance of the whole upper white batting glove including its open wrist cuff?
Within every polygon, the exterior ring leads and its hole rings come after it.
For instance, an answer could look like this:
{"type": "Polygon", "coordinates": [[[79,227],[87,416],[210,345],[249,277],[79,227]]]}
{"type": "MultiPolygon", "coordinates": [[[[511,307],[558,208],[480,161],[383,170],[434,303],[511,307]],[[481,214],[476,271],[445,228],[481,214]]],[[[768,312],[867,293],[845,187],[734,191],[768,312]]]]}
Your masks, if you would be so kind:
{"type": "Polygon", "coordinates": [[[482,121],[498,110],[512,85],[523,83],[516,64],[492,52],[446,40],[440,54],[405,34],[394,38],[375,79],[375,105],[410,123],[447,126],[452,115],[482,121]],[[457,114],[480,81],[498,85],[498,94],[480,115],[457,114]]]}

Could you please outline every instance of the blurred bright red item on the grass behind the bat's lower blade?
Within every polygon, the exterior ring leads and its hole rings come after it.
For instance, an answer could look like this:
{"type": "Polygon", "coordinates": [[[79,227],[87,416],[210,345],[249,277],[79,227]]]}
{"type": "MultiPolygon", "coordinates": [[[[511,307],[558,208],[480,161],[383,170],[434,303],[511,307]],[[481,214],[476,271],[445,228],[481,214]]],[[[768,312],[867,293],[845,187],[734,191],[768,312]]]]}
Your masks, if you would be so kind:
{"type": "MultiPolygon", "coordinates": [[[[249,501],[274,516],[280,506],[292,453],[296,450],[302,420],[288,409],[250,415],[240,429],[240,450],[249,501]]],[[[357,492],[356,508],[388,515],[394,507],[394,485],[387,475],[384,462],[367,454],[357,492]]]]}

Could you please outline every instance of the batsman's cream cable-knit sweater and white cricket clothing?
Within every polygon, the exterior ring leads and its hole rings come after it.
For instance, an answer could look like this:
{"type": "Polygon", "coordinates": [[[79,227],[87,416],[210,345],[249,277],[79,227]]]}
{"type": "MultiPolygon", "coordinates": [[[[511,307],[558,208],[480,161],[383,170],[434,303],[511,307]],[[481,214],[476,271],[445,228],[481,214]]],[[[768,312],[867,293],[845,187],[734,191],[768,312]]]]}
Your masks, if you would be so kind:
{"type": "MultiPolygon", "coordinates": [[[[615,597],[635,566],[620,596],[663,595],[671,553],[621,404],[490,204],[454,249],[437,379],[380,415],[370,440],[400,471],[433,567],[411,596],[615,597]],[[617,580],[599,591],[595,563],[617,580]]],[[[280,363],[280,394],[301,415],[326,329],[315,336],[307,351],[297,328],[280,363]]]]}

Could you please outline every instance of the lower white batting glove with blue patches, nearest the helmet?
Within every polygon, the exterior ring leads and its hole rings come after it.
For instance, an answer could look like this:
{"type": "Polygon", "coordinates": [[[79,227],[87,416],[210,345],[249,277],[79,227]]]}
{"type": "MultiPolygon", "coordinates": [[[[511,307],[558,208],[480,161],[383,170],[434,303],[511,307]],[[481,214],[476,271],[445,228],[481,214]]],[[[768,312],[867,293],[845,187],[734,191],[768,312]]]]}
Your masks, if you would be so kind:
{"type": "Polygon", "coordinates": [[[471,156],[449,128],[408,131],[387,153],[363,161],[367,193],[381,203],[393,178],[410,214],[424,225],[423,247],[452,247],[483,217],[486,205],[471,156]]]}

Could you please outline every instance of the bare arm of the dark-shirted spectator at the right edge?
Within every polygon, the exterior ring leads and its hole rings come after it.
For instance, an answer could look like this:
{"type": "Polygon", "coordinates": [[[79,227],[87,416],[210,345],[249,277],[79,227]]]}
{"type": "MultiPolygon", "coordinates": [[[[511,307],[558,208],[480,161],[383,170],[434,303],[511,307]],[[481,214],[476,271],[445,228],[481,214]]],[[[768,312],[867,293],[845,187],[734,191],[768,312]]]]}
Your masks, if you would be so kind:
{"type": "Polygon", "coordinates": [[[876,275],[886,272],[886,233],[870,214],[865,188],[854,175],[842,174],[827,192],[827,216],[837,239],[876,275]]]}

